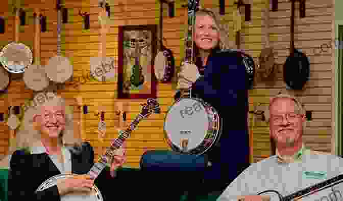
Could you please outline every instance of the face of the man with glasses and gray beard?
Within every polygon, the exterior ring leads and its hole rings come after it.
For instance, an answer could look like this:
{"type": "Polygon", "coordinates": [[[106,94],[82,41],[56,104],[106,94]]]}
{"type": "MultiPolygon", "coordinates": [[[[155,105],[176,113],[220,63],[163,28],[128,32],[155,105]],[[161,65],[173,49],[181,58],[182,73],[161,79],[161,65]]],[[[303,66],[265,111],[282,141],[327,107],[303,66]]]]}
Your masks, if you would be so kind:
{"type": "Polygon", "coordinates": [[[296,103],[290,98],[277,98],[271,106],[271,135],[279,146],[293,147],[302,143],[304,114],[299,114],[296,103]]]}

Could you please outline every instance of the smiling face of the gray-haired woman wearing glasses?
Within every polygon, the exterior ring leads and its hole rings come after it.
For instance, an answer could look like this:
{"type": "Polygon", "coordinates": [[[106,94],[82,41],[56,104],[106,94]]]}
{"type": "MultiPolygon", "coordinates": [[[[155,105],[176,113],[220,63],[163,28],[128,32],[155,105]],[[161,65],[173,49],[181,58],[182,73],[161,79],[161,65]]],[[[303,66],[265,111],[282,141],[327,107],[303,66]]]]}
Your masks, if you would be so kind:
{"type": "Polygon", "coordinates": [[[65,109],[63,106],[41,106],[41,113],[36,114],[35,118],[43,138],[58,138],[65,129],[65,109]]]}

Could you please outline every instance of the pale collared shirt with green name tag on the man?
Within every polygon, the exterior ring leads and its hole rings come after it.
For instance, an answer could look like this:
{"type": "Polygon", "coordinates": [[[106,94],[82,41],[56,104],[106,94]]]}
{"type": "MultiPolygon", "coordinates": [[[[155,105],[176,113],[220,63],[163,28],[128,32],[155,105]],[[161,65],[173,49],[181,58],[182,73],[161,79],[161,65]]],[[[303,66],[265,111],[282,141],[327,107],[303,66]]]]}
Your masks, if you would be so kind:
{"type": "MultiPolygon", "coordinates": [[[[278,156],[273,155],[252,163],[217,200],[237,200],[237,196],[257,195],[266,190],[275,190],[282,196],[287,196],[343,173],[343,158],[339,156],[312,151],[305,146],[297,154],[300,155],[298,159],[301,158],[298,162],[280,163],[278,156]]],[[[342,187],[343,185],[338,186],[342,187]]],[[[339,191],[343,192],[343,189],[339,191]]],[[[271,201],[280,200],[273,192],[262,195],[271,196],[271,201]]]]}

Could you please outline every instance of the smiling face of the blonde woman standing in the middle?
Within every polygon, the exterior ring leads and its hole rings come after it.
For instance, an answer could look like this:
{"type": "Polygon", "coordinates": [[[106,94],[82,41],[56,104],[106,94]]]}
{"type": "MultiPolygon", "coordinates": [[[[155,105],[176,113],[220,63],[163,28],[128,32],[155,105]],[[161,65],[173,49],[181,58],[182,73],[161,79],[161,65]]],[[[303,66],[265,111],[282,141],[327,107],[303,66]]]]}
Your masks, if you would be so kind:
{"type": "Polygon", "coordinates": [[[207,14],[195,18],[194,42],[198,48],[213,49],[219,42],[219,32],[212,17],[207,14]]]}

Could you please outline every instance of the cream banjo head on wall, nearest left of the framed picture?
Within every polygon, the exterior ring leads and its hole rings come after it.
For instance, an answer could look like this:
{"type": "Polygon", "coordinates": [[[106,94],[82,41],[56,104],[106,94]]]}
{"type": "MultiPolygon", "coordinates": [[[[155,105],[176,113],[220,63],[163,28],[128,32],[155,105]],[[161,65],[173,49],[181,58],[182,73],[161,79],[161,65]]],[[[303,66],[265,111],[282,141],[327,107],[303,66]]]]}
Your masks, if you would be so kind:
{"type": "Polygon", "coordinates": [[[90,58],[90,72],[98,81],[111,80],[116,74],[116,61],[113,57],[90,58]],[[103,78],[104,77],[104,78],[103,78]],[[105,79],[105,80],[103,80],[105,79]]]}

